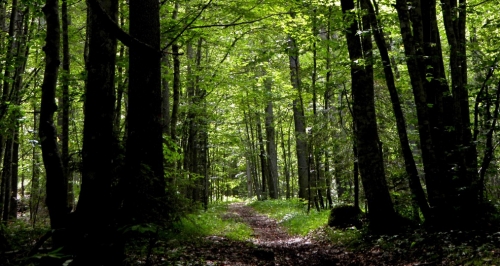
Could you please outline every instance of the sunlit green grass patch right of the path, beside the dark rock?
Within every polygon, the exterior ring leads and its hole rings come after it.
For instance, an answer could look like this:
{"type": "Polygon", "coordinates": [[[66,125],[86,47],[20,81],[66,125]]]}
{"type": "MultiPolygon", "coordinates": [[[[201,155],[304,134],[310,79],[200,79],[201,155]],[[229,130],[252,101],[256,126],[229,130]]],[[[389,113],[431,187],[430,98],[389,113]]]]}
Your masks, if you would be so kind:
{"type": "Polygon", "coordinates": [[[288,233],[301,236],[326,225],[330,215],[330,211],[317,212],[315,209],[307,214],[307,203],[298,199],[254,201],[249,205],[277,220],[288,233]]]}

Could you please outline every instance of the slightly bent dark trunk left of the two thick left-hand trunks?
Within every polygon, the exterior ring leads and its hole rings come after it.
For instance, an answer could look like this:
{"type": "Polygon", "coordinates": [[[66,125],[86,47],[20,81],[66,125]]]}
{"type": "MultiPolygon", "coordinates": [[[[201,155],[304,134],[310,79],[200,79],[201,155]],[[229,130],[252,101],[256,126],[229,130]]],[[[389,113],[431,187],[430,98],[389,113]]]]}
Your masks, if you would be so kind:
{"type": "MultiPolygon", "coordinates": [[[[54,112],[57,105],[56,84],[59,72],[60,25],[59,1],[47,0],[42,8],[47,23],[45,38],[45,73],[42,84],[39,136],[42,145],[42,157],[46,173],[46,204],[49,209],[52,229],[66,227],[68,214],[68,189],[64,178],[64,169],[57,146],[57,131],[54,125],[54,112]]],[[[56,233],[52,237],[54,247],[63,245],[62,236],[56,233]]]]}

